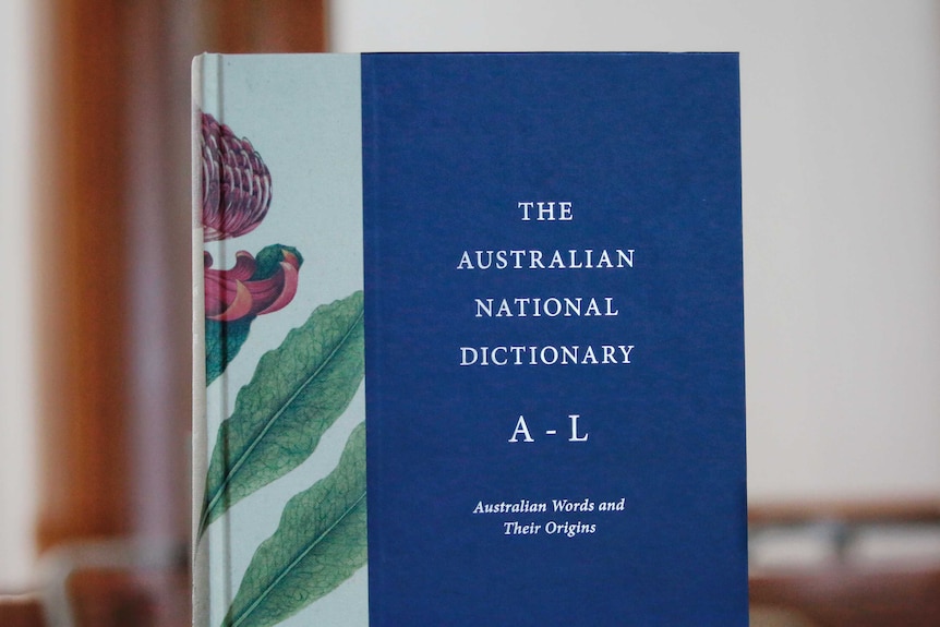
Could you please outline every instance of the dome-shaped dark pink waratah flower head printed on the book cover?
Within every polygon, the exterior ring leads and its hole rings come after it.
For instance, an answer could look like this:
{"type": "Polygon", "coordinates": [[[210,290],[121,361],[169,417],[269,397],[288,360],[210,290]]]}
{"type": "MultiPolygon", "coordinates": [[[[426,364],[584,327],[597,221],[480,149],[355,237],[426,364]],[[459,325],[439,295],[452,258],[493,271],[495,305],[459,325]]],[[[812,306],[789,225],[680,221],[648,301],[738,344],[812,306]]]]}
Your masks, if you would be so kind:
{"type": "Polygon", "coordinates": [[[270,172],[246,138],[202,114],[203,241],[254,230],[270,206],[270,172]]]}

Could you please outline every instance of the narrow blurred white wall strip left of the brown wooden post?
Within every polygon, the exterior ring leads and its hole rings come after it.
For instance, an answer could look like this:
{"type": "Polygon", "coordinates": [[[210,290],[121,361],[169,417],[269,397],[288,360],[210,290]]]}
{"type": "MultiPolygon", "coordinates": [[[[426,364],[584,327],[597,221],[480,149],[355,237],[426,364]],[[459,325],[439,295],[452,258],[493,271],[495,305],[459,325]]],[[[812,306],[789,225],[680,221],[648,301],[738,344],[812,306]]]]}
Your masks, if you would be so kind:
{"type": "Polygon", "coordinates": [[[36,486],[32,245],[37,3],[0,5],[0,592],[29,586],[36,486]]]}

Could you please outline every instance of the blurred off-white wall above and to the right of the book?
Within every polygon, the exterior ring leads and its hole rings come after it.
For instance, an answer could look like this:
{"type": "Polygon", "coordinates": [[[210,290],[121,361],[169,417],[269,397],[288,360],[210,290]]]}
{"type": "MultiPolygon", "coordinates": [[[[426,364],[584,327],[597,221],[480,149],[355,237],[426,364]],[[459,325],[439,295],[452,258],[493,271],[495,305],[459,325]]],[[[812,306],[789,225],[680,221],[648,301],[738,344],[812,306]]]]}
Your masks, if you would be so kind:
{"type": "Polygon", "coordinates": [[[336,0],[332,36],[739,51],[751,498],[940,494],[940,3],[336,0]]]}

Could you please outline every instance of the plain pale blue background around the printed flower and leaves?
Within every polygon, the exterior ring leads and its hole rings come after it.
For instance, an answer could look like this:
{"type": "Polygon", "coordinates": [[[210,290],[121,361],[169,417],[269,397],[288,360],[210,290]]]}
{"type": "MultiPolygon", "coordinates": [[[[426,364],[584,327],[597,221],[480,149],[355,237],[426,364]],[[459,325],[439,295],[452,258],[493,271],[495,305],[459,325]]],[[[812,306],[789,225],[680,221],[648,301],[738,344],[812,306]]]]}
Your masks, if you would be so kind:
{"type": "MultiPolygon", "coordinates": [[[[274,243],[296,246],[304,258],[293,301],[255,319],[241,352],[207,390],[212,450],[219,422],[231,413],[261,355],[277,348],[317,305],[362,289],[360,61],[354,55],[207,56],[204,81],[207,111],[252,142],[273,181],[270,210],[257,229],[206,246],[215,267],[231,267],[239,250],[257,254],[274,243]],[[214,87],[218,97],[210,93],[214,87]]],[[[209,527],[212,626],[221,623],[255,548],[277,528],[284,505],[336,466],[364,414],[360,388],[306,462],[209,527]]],[[[366,578],[362,568],[281,625],[367,625],[366,578]]]]}

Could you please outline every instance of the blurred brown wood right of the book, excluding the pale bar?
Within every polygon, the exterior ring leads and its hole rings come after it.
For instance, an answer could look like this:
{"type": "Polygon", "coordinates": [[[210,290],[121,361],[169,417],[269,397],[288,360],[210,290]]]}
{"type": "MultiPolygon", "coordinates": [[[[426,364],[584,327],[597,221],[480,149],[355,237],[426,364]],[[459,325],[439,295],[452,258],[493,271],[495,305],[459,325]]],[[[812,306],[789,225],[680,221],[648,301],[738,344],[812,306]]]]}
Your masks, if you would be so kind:
{"type": "Polygon", "coordinates": [[[858,542],[872,532],[933,530],[940,499],[794,503],[752,506],[751,547],[770,531],[816,529],[832,545],[821,563],[756,567],[756,607],[794,611],[817,627],[940,626],[940,558],[860,559],[858,542]]]}

